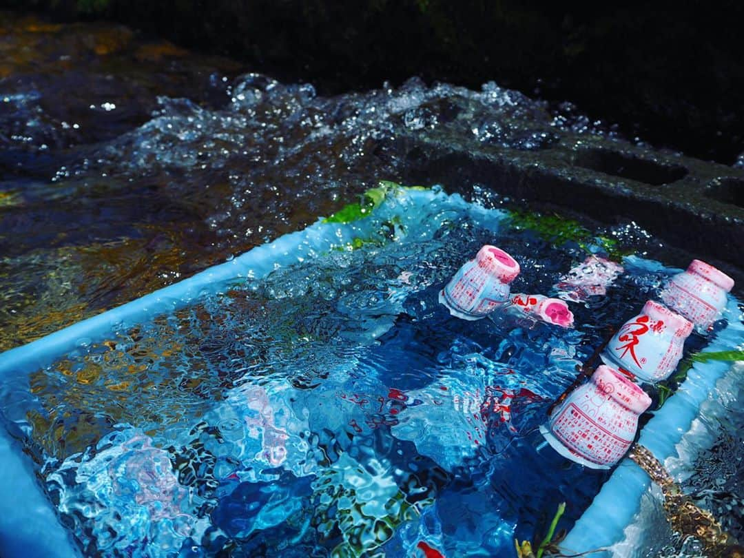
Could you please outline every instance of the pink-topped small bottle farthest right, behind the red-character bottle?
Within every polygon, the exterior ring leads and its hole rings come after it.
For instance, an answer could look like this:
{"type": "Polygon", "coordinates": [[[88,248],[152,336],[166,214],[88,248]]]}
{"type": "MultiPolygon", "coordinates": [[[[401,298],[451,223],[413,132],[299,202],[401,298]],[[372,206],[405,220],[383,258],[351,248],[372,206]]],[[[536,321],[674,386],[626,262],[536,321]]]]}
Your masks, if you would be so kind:
{"type": "Polygon", "coordinates": [[[661,300],[705,332],[726,306],[726,293],[734,280],[701,260],[693,260],[687,270],[669,280],[661,300]]]}

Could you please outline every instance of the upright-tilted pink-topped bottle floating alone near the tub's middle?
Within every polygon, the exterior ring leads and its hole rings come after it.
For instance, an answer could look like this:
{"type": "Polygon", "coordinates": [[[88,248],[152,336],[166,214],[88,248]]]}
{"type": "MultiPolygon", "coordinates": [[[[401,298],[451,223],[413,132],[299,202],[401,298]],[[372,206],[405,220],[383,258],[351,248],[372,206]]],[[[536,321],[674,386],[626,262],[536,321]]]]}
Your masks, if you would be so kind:
{"type": "Polygon", "coordinates": [[[449,313],[479,320],[509,301],[509,283],[519,275],[519,263],[501,248],[486,245],[462,266],[439,293],[449,313]]]}

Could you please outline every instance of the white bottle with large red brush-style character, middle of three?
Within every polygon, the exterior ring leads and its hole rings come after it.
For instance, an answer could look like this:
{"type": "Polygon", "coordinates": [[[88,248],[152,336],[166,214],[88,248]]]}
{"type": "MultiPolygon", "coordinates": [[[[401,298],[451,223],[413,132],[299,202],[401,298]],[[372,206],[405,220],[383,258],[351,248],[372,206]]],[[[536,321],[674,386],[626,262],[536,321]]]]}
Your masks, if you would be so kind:
{"type": "Polygon", "coordinates": [[[677,368],[684,340],[692,330],[693,324],[681,315],[648,301],[610,339],[602,360],[645,382],[659,382],[677,368]]]}

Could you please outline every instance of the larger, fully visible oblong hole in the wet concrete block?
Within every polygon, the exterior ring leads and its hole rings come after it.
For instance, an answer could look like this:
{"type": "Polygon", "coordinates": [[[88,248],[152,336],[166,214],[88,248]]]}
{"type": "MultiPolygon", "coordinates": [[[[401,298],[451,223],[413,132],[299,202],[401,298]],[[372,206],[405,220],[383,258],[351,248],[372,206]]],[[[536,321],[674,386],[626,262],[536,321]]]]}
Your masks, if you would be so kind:
{"type": "Polygon", "coordinates": [[[574,164],[654,186],[676,182],[687,176],[687,169],[682,165],[656,163],[610,150],[580,150],[574,158],[574,164]]]}

